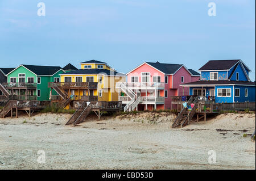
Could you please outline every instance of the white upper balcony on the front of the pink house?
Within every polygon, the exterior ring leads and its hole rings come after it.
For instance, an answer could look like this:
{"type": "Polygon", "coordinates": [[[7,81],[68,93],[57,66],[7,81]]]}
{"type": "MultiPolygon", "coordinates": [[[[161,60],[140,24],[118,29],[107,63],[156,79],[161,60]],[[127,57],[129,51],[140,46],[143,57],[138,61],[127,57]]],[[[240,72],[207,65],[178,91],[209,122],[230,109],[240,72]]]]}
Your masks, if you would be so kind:
{"type": "Polygon", "coordinates": [[[124,82],[128,89],[160,89],[164,90],[164,82],[124,82]]]}

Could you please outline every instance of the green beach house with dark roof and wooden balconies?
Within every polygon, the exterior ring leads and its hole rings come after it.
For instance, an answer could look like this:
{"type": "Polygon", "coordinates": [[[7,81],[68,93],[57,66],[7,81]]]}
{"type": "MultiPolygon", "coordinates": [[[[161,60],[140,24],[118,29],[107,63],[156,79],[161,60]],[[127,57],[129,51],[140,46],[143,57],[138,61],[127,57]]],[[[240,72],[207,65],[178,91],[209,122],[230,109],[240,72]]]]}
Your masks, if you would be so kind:
{"type": "Polygon", "coordinates": [[[19,65],[7,74],[7,83],[3,86],[17,100],[49,100],[51,95],[58,95],[48,88],[48,82],[60,82],[60,75],[65,71],[60,66],[19,65]]]}

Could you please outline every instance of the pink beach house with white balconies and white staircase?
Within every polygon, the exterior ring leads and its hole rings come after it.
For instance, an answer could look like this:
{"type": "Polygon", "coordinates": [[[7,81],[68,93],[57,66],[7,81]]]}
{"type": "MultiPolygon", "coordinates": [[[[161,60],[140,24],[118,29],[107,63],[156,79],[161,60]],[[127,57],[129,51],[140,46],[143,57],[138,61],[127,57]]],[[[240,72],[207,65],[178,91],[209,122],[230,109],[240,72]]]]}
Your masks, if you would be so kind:
{"type": "Polygon", "coordinates": [[[125,111],[171,109],[171,96],[189,95],[180,84],[200,79],[199,73],[182,64],[159,62],[143,62],[126,75],[127,82],[117,85],[125,111]]]}

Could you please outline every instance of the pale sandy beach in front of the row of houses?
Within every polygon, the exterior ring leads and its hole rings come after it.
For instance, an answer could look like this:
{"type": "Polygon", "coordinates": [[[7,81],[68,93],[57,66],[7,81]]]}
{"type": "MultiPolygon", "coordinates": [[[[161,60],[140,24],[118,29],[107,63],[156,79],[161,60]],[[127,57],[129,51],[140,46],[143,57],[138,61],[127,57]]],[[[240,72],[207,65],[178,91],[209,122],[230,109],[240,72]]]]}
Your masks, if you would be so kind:
{"type": "Polygon", "coordinates": [[[121,115],[64,125],[71,115],[0,119],[0,169],[255,169],[255,114],[171,128],[175,115],[121,115]],[[46,163],[39,164],[38,150],[46,163]],[[208,151],[216,151],[216,163],[208,151]]]}

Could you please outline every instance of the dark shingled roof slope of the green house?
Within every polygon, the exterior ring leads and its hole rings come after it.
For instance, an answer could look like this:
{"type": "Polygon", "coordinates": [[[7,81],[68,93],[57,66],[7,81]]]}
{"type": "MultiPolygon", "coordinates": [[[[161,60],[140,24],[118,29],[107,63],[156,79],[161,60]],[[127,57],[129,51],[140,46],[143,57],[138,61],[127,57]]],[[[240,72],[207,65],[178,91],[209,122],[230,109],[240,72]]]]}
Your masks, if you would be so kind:
{"type": "Polygon", "coordinates": [[[61,69],[60,66],[22,65],[36,75],[53,75],[61,69]]]}

